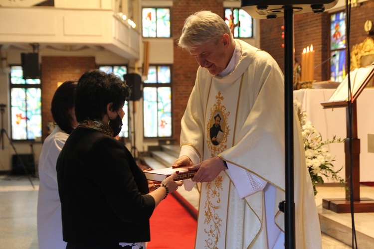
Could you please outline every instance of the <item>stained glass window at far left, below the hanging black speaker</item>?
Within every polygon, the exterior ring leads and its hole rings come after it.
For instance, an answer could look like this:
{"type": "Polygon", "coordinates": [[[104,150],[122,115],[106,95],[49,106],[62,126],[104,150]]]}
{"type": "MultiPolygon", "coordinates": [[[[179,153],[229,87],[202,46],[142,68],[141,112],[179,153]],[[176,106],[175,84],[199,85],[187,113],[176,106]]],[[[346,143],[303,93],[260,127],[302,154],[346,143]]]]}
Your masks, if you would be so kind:
{"type": "Polygon", "coordinates": [[[10,66],[11,139],[41,137],[41,85],[39,79],[23,79],[21,66],[10,66]]]}

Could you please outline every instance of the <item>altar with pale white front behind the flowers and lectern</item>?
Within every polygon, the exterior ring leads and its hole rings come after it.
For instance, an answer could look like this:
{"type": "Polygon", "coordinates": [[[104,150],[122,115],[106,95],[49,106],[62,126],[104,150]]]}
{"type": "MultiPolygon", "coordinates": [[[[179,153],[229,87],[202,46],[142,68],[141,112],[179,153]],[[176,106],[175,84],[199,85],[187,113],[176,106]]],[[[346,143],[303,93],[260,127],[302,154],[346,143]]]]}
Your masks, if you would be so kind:
{"type": "MultiPolygon", "coordinates": [[[[306,112],[307,120],[312,122],[323,140],[347,137],[346,108],[323,109],[321,102],[330,99],[335,89],[301,89],[293,92],[293,98],[301,103],[301,111],[306,112]]],[[[374,153],[372,146],[374,134],[374,89],[366,88],[357,100],[358,138],[360,138],[360,182],[374,181],[374,153]],[[369,137],[369,139],[368,139],[369,137]],[[368,151],[368,148],[371,152],[368,151]]],[[[327,145],[332,157],[335,170],[345,166],[344,143],[327,145]]],[[[339,172],[345,179],[345,169],[339,172]]],[[[329,181],[325,180],[325,183],[329,181]]],[[[331,182],[331,180],[330,180],[331,182]]]]}

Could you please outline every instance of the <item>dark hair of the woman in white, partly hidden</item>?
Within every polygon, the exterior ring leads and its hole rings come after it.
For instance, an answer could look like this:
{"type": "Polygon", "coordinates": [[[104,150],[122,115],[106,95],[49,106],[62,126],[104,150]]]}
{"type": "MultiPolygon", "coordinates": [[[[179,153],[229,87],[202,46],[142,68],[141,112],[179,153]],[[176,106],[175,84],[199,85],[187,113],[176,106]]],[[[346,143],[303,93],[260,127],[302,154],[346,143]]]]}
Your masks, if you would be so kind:
{"type": "Polygon", "coordinates": [[[78,80],[74,79],[62,83],[54,93],[51,103],[54,123],[68,134],[74,129],[69,111],[74,108],[74,91],[77,87],[77,82],[78,80]]]}

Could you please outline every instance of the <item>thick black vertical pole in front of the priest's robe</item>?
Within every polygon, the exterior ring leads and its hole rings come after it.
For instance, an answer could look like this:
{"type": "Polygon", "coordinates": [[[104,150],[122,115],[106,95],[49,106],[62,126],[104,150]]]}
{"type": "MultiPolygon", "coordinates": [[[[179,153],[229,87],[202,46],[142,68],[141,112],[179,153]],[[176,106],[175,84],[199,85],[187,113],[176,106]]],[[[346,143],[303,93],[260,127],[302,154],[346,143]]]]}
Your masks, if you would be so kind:
{"type": "Polygon", "coordinates": [[[285,248],[295,249],[294,127],[293,127],[293,8],[284,9],[284,114],[286,202],[285,248]]]}

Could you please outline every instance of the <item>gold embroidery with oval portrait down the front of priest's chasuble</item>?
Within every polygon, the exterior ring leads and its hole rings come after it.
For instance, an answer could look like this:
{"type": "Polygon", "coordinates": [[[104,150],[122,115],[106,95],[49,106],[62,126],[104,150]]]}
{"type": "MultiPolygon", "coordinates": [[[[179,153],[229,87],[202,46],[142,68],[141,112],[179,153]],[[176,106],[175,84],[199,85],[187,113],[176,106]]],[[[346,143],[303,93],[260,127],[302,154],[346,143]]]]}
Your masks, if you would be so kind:
{"type": "MultiPolygon", "coordinates": [[[[230,125],[228,124],[228,116],[230,112],[226,112],[226,107],[222,105],[224,97],[221,92],[215,96],[216,103],[210,108],[210,116],[206,122],[206,145],[210,156],[217,156],[219,153],[227,149],[227,136],[230,133],[230,125]]],[[[223,235],[225,234],[226,217],[221,218],[221,192],[224,172],[221,172],[213,181],[207,182],[204,188],[205,202],[204,204],[204,233],[205,248],[218,248],[218,242],[222,238],[221,227],[223,227],[223,235]],[[223,220],[222,220],[223,219],[223,220]]],[[[227,187],[227,186],[226,186],[227,187]]],[[[227,191],[227,189],[226,189],[227,191]]],[[[224,198],[227,198],[226,195],[224,198]]],[[[223,201],[225,203],[226,200],[223,201]]],[[[225,209],[225,208],[224,208],[225,209]]]]}

